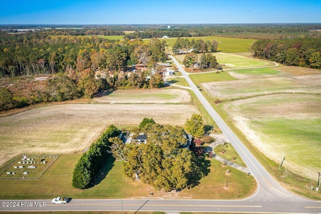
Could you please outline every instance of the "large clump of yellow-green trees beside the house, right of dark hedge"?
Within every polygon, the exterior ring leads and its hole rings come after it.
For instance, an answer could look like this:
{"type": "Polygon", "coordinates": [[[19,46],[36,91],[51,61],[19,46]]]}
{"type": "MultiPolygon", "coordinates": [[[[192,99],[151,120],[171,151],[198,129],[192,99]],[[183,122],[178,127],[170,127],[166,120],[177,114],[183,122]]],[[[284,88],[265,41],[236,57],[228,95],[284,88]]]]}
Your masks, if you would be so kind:
{"type": "Polygon", "coordinates": [[[124,146],[119,138],[110,139],[113,156],[124,161],[124,175],[165,191],[193,187],[207,175],[207,166],[199,165],[195,154],[184,148],[182,127],[155,124],[152,119],[144,119],[140,125],[133,132],[147,135],[146,144],[124,146]]]}

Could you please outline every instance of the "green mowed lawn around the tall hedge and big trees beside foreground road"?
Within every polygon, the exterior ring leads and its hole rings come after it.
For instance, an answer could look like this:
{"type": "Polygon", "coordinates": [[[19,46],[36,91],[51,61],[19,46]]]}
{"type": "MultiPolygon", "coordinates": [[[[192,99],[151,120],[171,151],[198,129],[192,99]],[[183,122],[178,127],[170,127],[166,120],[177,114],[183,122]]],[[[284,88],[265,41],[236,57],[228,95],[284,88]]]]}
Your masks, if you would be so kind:
{"type": "Polygon", "coordinates": [[[256,190],[253,176],[234,170],[212,159],[208,176],[192,189],[180,192],[156,191],[148,184],[133,181],[122,173],[122,162],[110,156],[104,165],[95,185],[80,190],[72,187],[72,174],[80,155],[60,156],[39,180],[0,180],[1,199],[51,199],[57,195],[79,198],[195,198],[195,199],[237,199],[251,195],[256,190]],[[230,169],[229,175],[225,172],[230,169]],[[228,183],[228,189],[224,189],[228,183]],[[149,196],[153,192],[153,196],[149,196]]]}

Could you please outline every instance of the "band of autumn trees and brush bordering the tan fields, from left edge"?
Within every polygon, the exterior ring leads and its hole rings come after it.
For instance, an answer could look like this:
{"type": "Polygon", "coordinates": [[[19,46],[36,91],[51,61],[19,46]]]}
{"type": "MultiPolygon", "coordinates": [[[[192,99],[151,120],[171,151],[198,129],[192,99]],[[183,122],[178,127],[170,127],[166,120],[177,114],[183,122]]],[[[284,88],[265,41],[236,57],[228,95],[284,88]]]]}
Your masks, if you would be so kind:
{"type": "MultiPolygon", "coordinates": [[[[162,74],[150,69],[136,73],[114,74],[97,78],[91,69],[76,73],[57,73],[45,80],[24,78],[0,87],[0,111],[23,108],[30,104],[92,98],[99,90],[115,88],[158,88],[164,83],[162,74]]],[[[6,83],[6,82],[5,82],[6,83]]]]}

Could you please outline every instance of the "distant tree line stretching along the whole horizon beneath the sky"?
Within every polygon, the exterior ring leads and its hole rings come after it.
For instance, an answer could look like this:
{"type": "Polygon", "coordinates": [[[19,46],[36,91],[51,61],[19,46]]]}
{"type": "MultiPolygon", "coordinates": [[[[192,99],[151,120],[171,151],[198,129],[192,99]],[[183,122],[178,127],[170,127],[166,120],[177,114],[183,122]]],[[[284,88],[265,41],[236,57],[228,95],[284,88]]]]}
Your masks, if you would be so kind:
{"type": "Polygon", "coordinates": [[[43,29],[42,32],[54,30],[64,35],[123,35],[122,31],[134,31],[125,35],[128,39],[145,39],[169,37],[218,36],[244,39],[284,39],[299,37],[321,37],[321,25],[312,24],[176,24],[168,29],[167,25],[1,25],[0,34],[14,29],[43,29]],[[62,28],[64,29],[57,29],[62,28]],[[80,29],[75,29],[80,28],[80,29]]]}

